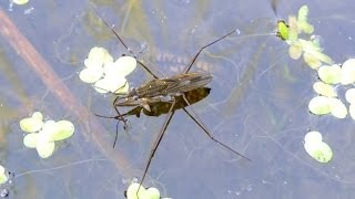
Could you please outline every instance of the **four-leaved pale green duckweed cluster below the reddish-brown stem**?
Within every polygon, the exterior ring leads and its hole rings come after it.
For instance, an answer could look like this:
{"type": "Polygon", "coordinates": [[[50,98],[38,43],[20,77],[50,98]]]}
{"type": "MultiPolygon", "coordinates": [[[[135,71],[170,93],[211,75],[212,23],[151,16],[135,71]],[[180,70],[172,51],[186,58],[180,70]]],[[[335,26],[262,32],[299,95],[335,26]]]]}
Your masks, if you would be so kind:
{"type": "Polygon", "coordinates": [[[24,146],[36,148],[41,158],[48,158],[53,154],[54,142],[67,139],[74,134],[74,125],[71,122],[43,122],[43,115],[40,112],[21,119],[20,128],[29,133],[23,138],[24,146]]]}

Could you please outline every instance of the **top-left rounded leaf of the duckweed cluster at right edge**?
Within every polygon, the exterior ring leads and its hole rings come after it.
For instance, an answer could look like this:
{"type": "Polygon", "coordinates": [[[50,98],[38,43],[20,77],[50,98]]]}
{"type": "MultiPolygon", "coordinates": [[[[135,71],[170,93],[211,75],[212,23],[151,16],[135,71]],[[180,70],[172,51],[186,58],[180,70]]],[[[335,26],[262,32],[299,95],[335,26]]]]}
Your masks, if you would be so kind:
{"type": "Polygon", "coordinates": [[[338,84],[341,82],[341,66],[339,65],[323,65],[318,69],[320,78],[327,84],[338,84]]]}

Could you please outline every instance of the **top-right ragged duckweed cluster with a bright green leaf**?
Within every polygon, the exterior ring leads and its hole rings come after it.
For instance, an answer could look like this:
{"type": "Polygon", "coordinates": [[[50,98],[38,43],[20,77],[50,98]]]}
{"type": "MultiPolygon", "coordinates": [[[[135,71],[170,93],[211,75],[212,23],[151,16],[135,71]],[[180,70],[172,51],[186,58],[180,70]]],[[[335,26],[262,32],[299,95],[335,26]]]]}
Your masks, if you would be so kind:
{"type": "Polygon", "coordinates": [[[280,20],[277,22],[277,35],[290,44],[290,57],[298,60],[303,55],[304,61],[312,69],[320,67],[322,63],[333,64],[333,60],[323,53],[320,36],[312,35],[314,27],[308,23],[307,15],[308,7],[303,6],[298,10],[298,17],[288,17],[288,24],[280,20]],[[310,39],[300,39],[302,33],[311,35],[310,39]]]}

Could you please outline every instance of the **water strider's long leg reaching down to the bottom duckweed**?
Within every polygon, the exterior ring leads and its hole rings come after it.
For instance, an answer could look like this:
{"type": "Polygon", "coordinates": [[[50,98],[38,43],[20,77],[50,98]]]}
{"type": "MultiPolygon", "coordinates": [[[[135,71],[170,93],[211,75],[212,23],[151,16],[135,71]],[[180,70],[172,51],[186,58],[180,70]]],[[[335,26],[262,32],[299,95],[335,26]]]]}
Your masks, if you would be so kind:
{"type": "MultiPolygon", "coordinates": [[[[148,169],[149,169],[149,167],[150,167],[150,165],[151,165],[151,161],[152,161],[152,159],[153,159],[153,157],[154,157],[154,155],[155,155],[155,151],[156,151],[156,149],[158,149],[158,147],[159,147],[159,144],[160,144],[160,142],[162,140],[162,138],[163,138],[163,136],[164,136],[164,134],[165,134],[165,132],[166,132],[166,128],[168,128],[168,125],[169,125],[170,121],[173,118],[173,115],[174,115],[174,113],[175,113],[175,112],[173,111],[174,106],[175,106],[175,100],[172,102],[172,105],[171,105],[171,107],[170,107],[170,109],[169,109],[168,117],[166,117],[166,119],[165,119],[165,122],[164,122],[164,124],[163,124],[163,126],[162,126],[162,128],[161,128],[158,137],[156,137],[155,140],[154,140],[154,144],[153,144],[153,146],[152,146],[151,154],[149,155],[149,159],[148,159],[148,163],[146,163],[146,165],[145,165],[144,172],[143,172],[142,179],[141,179],[141,181],[140,181],[140,185],[143,184],[143,180],[144,180],[145,175],[146,175],[146,172],[148,172],[148,169]]],[[[139,187],[136,193],[139,192],[140,188],[141,188],[141,187],[139,187]]]]}

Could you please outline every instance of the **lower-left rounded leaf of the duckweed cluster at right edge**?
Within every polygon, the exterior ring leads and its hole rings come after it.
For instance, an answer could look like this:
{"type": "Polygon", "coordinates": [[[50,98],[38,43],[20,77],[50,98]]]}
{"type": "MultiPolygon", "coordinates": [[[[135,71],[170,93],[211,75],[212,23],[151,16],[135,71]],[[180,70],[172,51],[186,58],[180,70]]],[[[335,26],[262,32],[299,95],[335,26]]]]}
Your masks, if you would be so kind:
{"type": "Polygon", "coordinates": [[[315,96],[310,101],[308,109],[315,115],[325,115],[331,113],[329,97],[315,96]]]}

